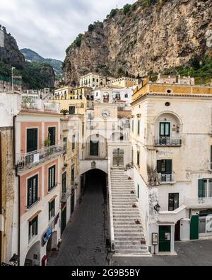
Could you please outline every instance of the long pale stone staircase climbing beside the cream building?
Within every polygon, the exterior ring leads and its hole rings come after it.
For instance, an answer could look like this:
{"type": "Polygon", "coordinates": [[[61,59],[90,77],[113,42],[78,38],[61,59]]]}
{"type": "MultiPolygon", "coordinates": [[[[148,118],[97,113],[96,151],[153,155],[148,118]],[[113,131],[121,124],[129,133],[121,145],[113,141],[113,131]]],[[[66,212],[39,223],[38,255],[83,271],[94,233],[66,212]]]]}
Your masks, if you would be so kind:
{"type": "Polygon", "coordinates": [[[133,207],[134,204],[137,206],[134,181],[129,180],[124,169],[111,169],[111,189],[115,254],[151,256],[146,245],[139,208],[133,207]]]}

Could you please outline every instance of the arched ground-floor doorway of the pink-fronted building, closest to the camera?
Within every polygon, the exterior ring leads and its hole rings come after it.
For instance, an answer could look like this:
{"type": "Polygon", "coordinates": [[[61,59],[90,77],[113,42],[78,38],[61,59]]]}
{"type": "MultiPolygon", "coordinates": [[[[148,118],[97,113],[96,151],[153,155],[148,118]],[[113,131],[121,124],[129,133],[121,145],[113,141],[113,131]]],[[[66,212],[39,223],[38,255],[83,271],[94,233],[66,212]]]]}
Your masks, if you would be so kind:
{"type": "Polygon", "coordinates": [[[40,266],[40,241],[36,242],[28,251],[25,257],[25,267],[39,267],[40,266]]]}

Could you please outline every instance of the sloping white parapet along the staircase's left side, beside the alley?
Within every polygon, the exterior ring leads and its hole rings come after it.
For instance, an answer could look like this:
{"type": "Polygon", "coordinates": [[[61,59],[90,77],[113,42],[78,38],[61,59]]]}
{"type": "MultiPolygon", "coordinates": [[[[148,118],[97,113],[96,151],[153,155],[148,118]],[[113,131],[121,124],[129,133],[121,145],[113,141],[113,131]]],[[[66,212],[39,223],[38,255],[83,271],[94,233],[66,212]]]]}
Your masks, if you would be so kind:
{"type": "Polygon", "coordinates": [[[111,164],[110,157],[108,158],[108,195],[109,195],[109,219],[110,219],[110,246],[112,252],[115,251],[114,242],[114,225],[113,225],[113,213],[112,213],[112,189],[111,189],[111,164]]]}

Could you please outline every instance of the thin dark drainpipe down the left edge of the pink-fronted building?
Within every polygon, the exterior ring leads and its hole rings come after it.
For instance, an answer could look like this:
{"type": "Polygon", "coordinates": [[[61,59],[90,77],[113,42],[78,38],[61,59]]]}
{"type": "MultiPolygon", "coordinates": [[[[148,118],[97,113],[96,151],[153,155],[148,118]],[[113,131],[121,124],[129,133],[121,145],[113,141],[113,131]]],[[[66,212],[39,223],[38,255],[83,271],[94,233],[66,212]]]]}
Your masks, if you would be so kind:
{"type": "Polygon", "coordinates": [[[18,267],[20,266],[20,175],[16,166],[16,117],[13,116],[13,167],[18,177],[18,267]]]}

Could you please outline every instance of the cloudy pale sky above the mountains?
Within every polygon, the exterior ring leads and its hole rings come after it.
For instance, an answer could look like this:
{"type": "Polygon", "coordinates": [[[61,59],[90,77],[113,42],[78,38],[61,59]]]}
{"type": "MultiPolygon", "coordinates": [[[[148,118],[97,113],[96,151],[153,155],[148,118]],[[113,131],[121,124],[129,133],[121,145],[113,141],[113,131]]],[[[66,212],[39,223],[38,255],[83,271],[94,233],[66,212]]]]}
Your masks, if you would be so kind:
{"type": "Polygon", "coordinates": [[[64,60],[65,50],[90,23],[136,0],[0,0],[0,24],[18,47],[64,60]]]}

